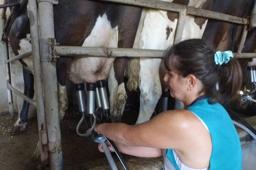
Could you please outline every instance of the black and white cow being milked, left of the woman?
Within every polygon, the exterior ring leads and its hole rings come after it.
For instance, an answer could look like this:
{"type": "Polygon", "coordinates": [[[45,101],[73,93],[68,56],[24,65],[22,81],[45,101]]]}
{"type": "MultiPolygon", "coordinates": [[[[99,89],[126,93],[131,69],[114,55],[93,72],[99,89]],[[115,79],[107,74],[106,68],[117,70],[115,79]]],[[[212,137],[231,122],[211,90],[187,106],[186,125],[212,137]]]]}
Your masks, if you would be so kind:
{"type": "MultiPolygon", "coordinates": [[[[15,0],[9,0],[8,3],[15,0]]],[[[9,42],[16,55],[31,50],[30,25],[27,8],[19,13],[11,26],[9,42]]],[[[55,38],[62,46],[132,48],[142,9],[135,6],[100,1],[61,0],[54,6],[55,38]]],[[[31,58],[31,57],[30,57],[31,58]]],[[[23,64],[24,94],[33,97],[33,68],[31,59],[23,64]]],[[[120,121],[126,92],[124,71],[126,58],[61,57],[57,59],[57,79],[60,118],[68,107],[66,78],[74,83],[94,83],[108,79],[110,84],[110,113],[120,121]],[[110,76],[109,73],[111,72],[110,76]]],[[[24,101],[14,130],[25,130],[29,104],[24,101]]]]}

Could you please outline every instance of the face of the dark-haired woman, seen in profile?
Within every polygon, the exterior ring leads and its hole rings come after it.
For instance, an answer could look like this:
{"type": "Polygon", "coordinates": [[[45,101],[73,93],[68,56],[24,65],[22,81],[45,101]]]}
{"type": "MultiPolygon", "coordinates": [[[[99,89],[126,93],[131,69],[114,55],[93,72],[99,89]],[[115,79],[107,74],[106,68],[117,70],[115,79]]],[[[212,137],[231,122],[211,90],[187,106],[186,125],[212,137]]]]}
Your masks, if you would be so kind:
{"type": "Polygon", "coordinates": [[[167,72],[163,78],[164,82],[169,84],[170,95],[178,100],[183,101],[185,90],[187,89],[186,78],[171,71],[167,72]]]}

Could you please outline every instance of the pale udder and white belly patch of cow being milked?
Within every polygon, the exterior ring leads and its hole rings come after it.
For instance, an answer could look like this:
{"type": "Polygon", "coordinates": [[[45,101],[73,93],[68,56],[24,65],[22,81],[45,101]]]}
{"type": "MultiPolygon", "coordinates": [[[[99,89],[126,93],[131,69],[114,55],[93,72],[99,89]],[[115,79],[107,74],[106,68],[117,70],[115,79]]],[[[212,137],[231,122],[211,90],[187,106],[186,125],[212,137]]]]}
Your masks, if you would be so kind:
{"type": "MultiPolygon", "coordinates": [[[[118,27],[111,27],[107,16],[98,17],[91,34],[84,40],[83,47],[118,47],[118,27]]],[[[87,56],[76,58],[68,70],[74,83],[96,82],[107,79],[114,58],[87,56]]]]}

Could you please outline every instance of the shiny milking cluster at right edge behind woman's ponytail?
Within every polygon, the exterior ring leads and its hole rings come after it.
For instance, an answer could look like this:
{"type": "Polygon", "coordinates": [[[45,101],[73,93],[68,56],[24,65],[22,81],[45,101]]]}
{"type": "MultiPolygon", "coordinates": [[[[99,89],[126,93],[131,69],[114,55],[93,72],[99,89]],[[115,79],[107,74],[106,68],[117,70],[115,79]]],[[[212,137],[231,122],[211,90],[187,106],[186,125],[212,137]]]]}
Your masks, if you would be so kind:
{"type": "Polygon", "coordinates": [[[238,104],[238,107],[240,108],[247,107],[248,105],[251,105],[252,102],[256,102],[256,100],[254,99],[254,93],[256,92],[256,67],[250,66],[247,68],[247,70],[249,74],[251,88],[247,90],[245,86],[244,89],[241,90],[241,97],[239,98],[238,104]]]}

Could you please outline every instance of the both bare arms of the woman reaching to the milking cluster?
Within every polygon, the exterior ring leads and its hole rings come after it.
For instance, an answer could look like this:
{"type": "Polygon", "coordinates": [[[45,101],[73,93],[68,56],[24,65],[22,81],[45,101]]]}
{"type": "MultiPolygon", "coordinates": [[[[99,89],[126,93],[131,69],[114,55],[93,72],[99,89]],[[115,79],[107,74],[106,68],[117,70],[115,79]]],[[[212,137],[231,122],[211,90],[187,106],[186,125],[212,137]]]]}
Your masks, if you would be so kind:
{"type": "Polygon", "coordinates": [[[130,155],[158,157],[161,149],[175,149],[184,163],[193,166],[197,166],[195,162],[200,162],[205,155],[210,157],[211,136],[189,110],[165,111],[147,122],[135,125],[101,123],[94,130],[113,140],[120,152],[130,155]]]}

